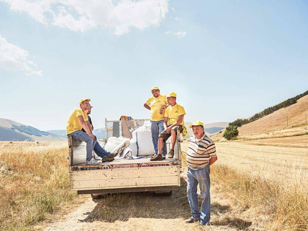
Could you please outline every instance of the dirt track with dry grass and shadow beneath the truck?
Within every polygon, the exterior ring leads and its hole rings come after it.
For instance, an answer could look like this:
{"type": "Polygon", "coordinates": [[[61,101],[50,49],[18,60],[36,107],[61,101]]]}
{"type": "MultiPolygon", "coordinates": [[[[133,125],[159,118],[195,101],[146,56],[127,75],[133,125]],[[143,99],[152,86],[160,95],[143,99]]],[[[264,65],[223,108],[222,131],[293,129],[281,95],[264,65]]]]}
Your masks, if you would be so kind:
{"type": "MultiPolygon", "coordinates": [[[[184,172],[182,175],[185,177],[184,172]]],[[[214,186],[211,188],[213,225],[186,224],[184,220],[190,217],[190,208],[184,178],[181,185],[171,197],[119,193],[112,198],[92,200],[89,195],[83,204],[70,208],[72,212],[55,223],[46,224],[43,230],[239,230],[251,225],[243,219],[245,212],[243,217],[234,215],[237,209],[214,186]]]]}

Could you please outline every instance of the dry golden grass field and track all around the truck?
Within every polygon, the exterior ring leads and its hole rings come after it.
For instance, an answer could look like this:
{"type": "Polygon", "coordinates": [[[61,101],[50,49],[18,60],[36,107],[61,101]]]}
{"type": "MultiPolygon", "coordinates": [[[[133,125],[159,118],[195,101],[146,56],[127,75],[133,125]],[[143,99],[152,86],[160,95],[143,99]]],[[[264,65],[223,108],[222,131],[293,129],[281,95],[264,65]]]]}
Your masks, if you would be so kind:
{"type": "Polygon", "coordinates": [[[172,196],[92,200],[67,190],[66,143],[2,142],[0,230],[308,230],[306,148],[216,145],[212,225],[200,227],[184,222],[190,216],[184,153],[181,187],[172,196]]]}

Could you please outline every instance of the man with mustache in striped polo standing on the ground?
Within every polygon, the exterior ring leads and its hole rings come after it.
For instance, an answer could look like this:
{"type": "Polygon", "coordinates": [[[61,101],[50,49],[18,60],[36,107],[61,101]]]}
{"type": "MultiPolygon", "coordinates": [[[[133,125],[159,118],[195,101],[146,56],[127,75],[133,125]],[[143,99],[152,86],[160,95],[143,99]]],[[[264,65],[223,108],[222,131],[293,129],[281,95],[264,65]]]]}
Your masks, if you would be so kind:
{"type": "Polygon", "coordinates": [[[203,123],[195,120],[189,128],[193,128],[193,135],[189,138],[186,161],[187,169],[187,197],[192,217],[185,222],[200,221],[200,225],[209,225],[211,199],[210,199],[210,165],[216,160],[214,142],[205,134],[203,123]],[[197,186],[203,198],[201,211],[199,211],[197,186]]]}

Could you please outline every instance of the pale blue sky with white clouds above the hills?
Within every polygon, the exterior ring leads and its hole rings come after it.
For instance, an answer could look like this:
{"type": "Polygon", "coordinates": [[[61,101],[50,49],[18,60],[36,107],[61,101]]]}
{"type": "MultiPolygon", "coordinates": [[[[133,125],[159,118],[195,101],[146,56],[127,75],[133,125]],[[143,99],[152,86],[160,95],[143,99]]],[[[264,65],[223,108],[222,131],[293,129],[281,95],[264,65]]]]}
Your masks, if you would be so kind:
{"type": "Polygon", "coordinates": [[[82,97],[96,128],[149,118],[157,85],[185,121],[228,122],[308,90],[305,1],[57,1],[43,14],[27,2],[0,0],[0,118],[65,129],[82,97]]]}

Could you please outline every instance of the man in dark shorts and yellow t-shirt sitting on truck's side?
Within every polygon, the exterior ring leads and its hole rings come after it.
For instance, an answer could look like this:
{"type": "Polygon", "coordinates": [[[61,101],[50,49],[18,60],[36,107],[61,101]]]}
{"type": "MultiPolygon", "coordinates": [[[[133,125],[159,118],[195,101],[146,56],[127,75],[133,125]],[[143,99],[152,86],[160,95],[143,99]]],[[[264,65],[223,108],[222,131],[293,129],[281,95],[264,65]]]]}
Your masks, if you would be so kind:
{"type": "Polygon", "coordinates": [[[167,95],[168,106],[164,113],[164,129],[158,136],[158,154],[152,157],[151,161],[163,160],[161,151],[163,144],[171,136],[171,149],[168,158],[174,156],[174,145],[177,140],[177,132],[182,132],[184,126],[184,107],[176,103],[176,93],[170,92],[167,95]],[[167,126],[167,123],[169,126],[167,126]]]}

